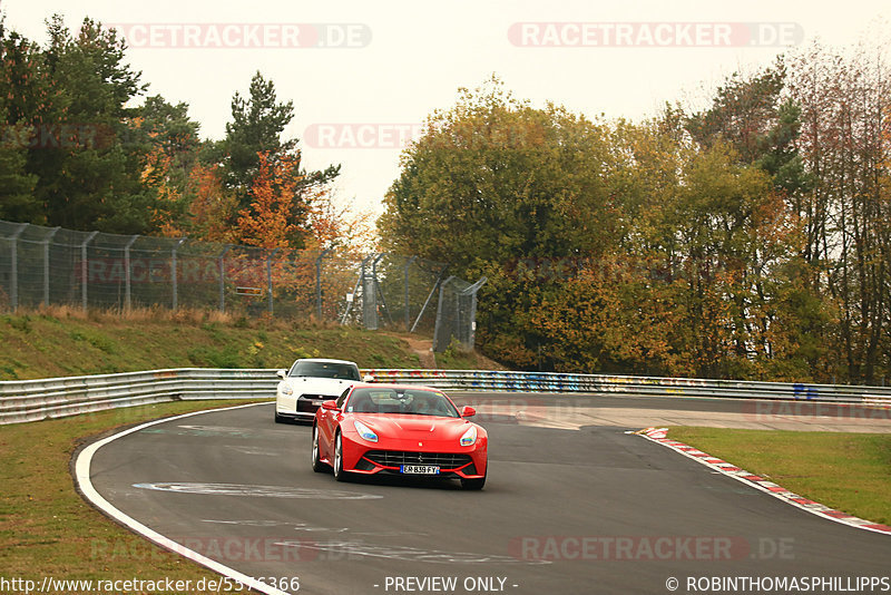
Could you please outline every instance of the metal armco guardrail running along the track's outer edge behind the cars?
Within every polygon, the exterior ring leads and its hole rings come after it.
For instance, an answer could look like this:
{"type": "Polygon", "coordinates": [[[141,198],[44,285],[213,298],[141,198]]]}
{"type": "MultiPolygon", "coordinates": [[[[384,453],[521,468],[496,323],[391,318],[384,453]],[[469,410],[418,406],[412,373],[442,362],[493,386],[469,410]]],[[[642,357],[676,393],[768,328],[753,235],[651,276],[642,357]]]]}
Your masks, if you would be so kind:
{"type": "MultiPolygon", "coordinates": [[[[522,392],[617,392],[732,399],[782,399],[891,406],[891,388],[689,378],[500,372],[486,370],[363,370],[378,382],[442,389],[522,392]]],[[[0,382],[0,425],[188,399],[275,396],[275,370],[151,370],[120,374],[0,382]]]]}

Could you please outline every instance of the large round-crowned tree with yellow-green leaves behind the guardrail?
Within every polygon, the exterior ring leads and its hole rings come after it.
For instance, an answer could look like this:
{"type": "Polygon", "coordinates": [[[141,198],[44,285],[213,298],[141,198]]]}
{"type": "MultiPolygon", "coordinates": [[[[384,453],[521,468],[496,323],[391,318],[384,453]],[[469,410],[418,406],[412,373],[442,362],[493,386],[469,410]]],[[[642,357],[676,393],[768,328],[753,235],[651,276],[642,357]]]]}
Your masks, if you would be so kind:
{"type": "Polygon", "coordinates": [[[515,274],[526,257],[598,255],[613,242],[603,182],[606,130],[515,99],[498,79],[434,113],[402,158],[379,221],[389,247],[487,275],[478,340],[528,364],[542,340],[525,318],[541,286],[515,274]]]}

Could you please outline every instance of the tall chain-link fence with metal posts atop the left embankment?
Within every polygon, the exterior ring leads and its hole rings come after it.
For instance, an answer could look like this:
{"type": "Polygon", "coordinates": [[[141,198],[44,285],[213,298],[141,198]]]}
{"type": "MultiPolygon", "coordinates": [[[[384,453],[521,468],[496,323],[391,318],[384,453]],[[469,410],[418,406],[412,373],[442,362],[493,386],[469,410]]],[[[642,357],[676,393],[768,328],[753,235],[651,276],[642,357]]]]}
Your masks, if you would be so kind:
{"type": "MultiPolygon", "coordinates": [[[[443,284],[447,269],[396,254],[268,251],[0,221],[0,310],[41,304],[214,309],[429,334],[440,333],[437,313],[450,312],[438,304],[437,290],[460,281],[443,284]]],[[[447,295],[440,291],[439,300],[447,295]]],[[[467,315],[456,319],[459,326],[472,325],[467,315]]],[[[442,331],[449,334],[444,344],[454,332],[472,349],[472,329],[459,326],[442,331]]]]}

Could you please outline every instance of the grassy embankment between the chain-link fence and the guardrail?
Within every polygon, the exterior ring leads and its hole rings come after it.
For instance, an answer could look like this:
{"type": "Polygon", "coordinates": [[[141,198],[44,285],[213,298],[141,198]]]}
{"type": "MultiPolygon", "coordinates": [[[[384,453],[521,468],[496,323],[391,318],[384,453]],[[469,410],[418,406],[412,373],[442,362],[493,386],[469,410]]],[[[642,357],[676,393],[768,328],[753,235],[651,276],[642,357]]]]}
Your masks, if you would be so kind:
{"type": "MultiPolygon", "coordinates": [[[[163,368],[286,368],[311,357],[353,360],[361,368],[420,365],[418,353],[394,333],[196,311],[85,314],[51,308],[4,314],[0,344],[0,380],[163,368]]],[[[448,354],[442,363],[487,365],[473,353],[448,354]]]]}

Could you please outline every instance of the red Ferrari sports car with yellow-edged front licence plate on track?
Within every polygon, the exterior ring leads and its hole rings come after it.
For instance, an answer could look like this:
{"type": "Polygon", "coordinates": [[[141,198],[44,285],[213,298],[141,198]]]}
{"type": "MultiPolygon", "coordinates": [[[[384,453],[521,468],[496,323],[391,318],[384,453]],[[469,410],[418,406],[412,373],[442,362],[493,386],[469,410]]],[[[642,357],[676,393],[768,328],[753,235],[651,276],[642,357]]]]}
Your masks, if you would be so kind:
{"type": "Polygon", "coordinates": [[[354,384],[323,401],[313,419],[314,471],[435,476],[482,489],[489,437],[440,390],[400,384],[354,384]]]}

